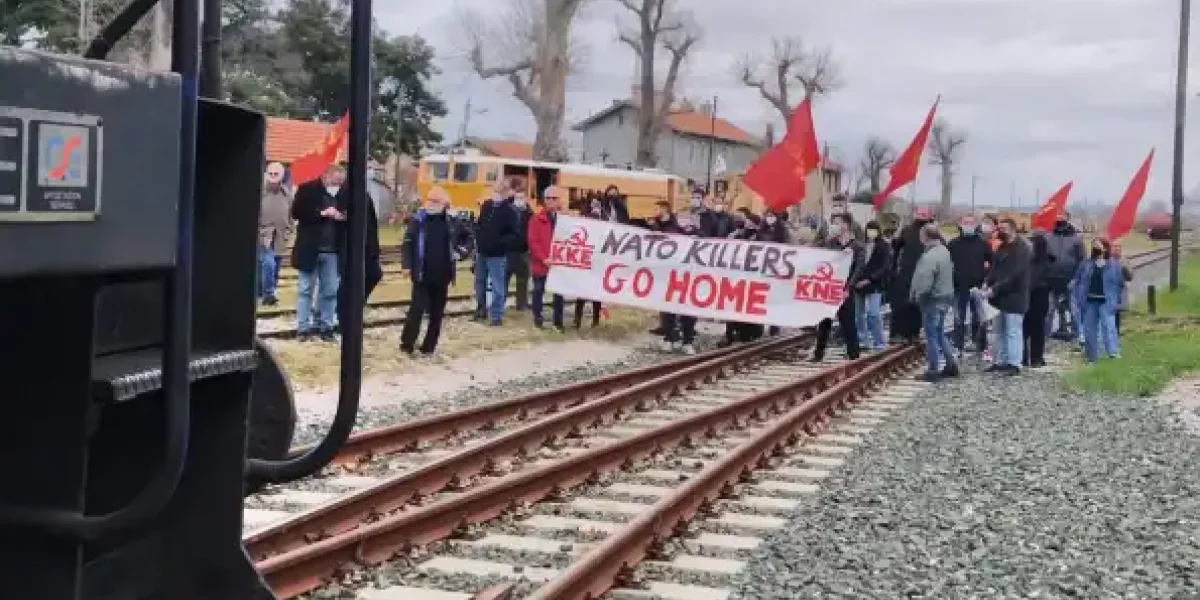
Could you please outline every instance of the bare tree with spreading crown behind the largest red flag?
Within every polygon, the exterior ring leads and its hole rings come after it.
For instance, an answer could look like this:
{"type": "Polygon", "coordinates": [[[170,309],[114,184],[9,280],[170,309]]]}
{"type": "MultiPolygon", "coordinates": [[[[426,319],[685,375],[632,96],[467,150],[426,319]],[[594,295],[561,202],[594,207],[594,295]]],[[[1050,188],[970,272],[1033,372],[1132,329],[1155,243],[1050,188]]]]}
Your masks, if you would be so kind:
{"type": "Polygon", "coordinates": [[[785,121],[792,118],[793,85],[802,97],[820,97],[844,85],[841,68],[828,48],[805,48],[798,36],[776,37],[770,42],[770,56],[763,59],[748,54],[738,61],[738,78],[748,88],[758,90],[785,121]]]}

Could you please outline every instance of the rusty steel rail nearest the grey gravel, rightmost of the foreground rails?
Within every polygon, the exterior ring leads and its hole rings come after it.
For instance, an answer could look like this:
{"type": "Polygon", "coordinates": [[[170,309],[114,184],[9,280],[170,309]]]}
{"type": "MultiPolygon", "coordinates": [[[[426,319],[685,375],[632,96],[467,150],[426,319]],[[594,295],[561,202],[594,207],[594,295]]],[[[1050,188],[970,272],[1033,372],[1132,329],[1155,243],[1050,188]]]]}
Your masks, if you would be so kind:
{"type": "Polygon", "coordinates": [[[768,467],[770,458],[782,455],[788,446],[796,446],[802,431],[815,434],[866,390],[911,366],[918,355],[916,346],[893,347],[876,355],[877,360],[862,371],[799,404],[787,400],[790,395],[794,398],[794,391],[776,394],[768,410],[786,410],[781,418],[688,479],[526,600],[600,598],[640,562],[660,552],[664,541],[686,532],[695,517],[714,514],[718,499],[736,497],[737,484],[754,470],[768,467]]]}

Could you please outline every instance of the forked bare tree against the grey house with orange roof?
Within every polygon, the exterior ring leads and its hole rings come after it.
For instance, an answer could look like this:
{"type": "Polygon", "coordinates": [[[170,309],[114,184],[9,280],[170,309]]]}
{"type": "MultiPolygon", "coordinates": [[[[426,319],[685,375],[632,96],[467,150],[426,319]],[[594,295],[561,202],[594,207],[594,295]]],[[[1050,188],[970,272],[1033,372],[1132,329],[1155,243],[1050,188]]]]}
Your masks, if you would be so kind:
{"type": "Polygon", "coordinates": [[[617,2],[630,11],[636,20],[630,31],[618,34],[618,40],[634,50],[640,68],[641,97],[635,98],[638,103],[636,162],[640,167],[654,167],[659,161],[655,146],[671,113],[679,70],[688,53],[700,42],[700,29],[688,14],[677,10],[674,0],[617,2]],[[661,85],[655,78],[660,48],[671,56],[661,85]]]}

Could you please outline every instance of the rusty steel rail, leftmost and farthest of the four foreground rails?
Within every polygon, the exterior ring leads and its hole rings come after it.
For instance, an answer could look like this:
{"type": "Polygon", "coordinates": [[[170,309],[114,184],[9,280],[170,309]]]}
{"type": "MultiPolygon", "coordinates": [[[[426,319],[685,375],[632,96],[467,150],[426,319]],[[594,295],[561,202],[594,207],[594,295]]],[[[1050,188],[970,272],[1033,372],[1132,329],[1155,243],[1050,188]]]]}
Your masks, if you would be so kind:
{"type": "MultiPolygon", "coordinates": [[[[346,440],[346,445],[334,458],[334,464],[353,464],[368,461],[374,456],[415,450],[418,444],[422,442],[434,442],[467,431],[487,430],[509,419],[526,420],[529,416],[554,413],[691,365],[718,359],[737,349],[738,347],[733,346],[718,348],[694,356],[658,362],[560,388],[539,390],[498,402],[476,404],[460,410],[361,431],[346,440]]],[[[301,448],[295,451],[305,451],[306,449],[301,448]]]]}

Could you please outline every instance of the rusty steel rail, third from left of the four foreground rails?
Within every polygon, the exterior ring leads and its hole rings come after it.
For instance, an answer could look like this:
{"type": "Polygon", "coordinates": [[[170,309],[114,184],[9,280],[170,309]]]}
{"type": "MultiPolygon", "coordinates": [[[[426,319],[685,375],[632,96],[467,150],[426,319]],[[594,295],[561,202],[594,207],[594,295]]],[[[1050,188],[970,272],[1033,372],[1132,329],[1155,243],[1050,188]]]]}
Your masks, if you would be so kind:
{"type": "Polygon", "coordinates": [[[600,474],[631,468],[637,460],[688,443],[696,436],[716,436],[722,427],[742,427],[748,419],[763,419],[768,413],[779,414],[863,368],[881,361],[892,364],[892,359],[898,355],[916,356],[917,350],[914,347],[902,347],[836,365],[630,438],[517,472],[432,504],[413,506],[356,529],[260,560],[257,564],[258,571],[280,598],[294,598],[318,587],[346,565],[382,563],[455,533],[466,533],[470,526],[595,480],[600,474]]]}

